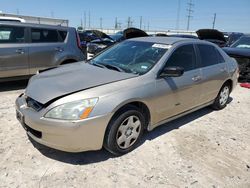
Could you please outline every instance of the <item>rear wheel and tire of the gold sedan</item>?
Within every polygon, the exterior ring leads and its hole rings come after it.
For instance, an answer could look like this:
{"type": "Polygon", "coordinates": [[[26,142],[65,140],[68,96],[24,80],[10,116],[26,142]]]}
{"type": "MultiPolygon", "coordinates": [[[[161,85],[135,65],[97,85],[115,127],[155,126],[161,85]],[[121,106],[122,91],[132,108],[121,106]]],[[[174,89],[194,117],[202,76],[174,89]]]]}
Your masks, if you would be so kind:
{"type": "Polygon", "coordinates": [[[228,83],[225,83],[215,98],[214,103],[212,104],[212,108],[215,110],[221,110],[227,106],[229,95],[231,91],[231,86],[228,83]]]}

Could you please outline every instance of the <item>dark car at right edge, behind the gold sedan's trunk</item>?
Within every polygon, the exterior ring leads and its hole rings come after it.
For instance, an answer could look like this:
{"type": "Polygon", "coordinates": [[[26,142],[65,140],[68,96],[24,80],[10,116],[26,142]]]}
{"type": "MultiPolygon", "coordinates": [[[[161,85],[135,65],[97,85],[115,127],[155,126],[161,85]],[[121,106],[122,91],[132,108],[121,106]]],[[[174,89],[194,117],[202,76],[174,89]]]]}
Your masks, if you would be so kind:
{"type": "Polygon", "coordinates": [[[244,35],[223,50],[235,58],[239,65],[239,81],[250,82],[250,35],[244,35]]]}

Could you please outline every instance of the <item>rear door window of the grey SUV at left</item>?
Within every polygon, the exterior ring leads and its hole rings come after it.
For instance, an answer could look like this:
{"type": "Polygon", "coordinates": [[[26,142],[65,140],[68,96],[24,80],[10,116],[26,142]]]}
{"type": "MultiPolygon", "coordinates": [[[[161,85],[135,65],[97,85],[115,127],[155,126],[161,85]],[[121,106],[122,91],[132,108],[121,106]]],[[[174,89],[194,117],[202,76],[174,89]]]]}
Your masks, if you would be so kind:
{"type": "Polygon", "coordinates": [[[57,30],[34,28],[31,29],[31,41],[32,43],[60,42],[57,30]]]}

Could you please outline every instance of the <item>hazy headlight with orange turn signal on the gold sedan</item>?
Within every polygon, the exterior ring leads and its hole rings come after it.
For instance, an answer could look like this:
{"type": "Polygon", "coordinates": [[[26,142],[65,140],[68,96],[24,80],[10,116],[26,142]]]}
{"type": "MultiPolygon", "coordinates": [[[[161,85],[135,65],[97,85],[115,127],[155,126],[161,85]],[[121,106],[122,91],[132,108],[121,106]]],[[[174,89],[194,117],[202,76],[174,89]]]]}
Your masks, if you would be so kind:
{"type": "Polygon", "coordinates": [[[65,103],[48,111],[44,117],[61,120],[82,120],[89,117],[98,98],[78,100],[65,103]]]}

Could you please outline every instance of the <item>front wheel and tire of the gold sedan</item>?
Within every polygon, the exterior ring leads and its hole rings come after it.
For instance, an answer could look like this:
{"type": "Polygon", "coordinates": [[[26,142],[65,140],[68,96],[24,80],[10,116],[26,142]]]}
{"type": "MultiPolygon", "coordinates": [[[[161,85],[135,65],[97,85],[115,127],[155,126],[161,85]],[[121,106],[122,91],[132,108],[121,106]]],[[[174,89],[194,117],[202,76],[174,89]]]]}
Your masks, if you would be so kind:
{"type": "Polygon", "coordinates": [[[136,148],[145,128],[145,117],[139,108],[128,106],[110,121],[104,148],[114,155],[123,155],[136,148]]]}

